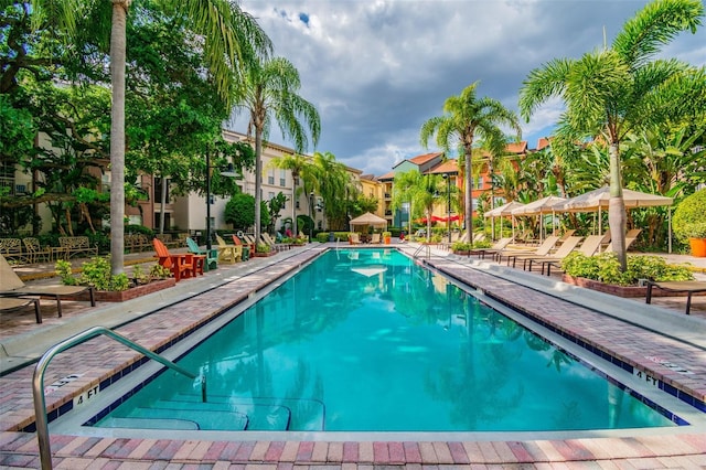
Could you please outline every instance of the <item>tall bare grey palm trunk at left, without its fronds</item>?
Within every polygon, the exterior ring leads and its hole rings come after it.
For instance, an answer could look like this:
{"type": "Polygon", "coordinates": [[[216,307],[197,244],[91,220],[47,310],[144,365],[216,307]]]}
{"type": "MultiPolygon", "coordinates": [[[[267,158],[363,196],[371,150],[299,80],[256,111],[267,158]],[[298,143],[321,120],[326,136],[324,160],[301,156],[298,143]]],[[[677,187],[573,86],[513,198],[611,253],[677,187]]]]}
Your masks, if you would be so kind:
{"type": "Polygon", "coordinates": [[[130,0],[113,1],[110,30],[110,271],[119,275],[125,258],[125,56],[130,0]]]}

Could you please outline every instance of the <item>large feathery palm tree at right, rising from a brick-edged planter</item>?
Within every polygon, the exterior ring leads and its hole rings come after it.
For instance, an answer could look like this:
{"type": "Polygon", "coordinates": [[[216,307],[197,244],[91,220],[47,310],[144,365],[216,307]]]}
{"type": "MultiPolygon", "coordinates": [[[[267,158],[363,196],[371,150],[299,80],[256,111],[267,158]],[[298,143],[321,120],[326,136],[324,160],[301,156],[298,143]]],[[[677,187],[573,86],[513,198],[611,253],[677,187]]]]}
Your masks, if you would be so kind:
{"type": "Polygon", "coordinates": [[[610,49],[586,53],[578,60],[555,58],[532,71],[520,93],[520,110],[527,120],[550,97],[564,99],[566,111],[557,138],[575,142],[600,136],[607,142],[608,221],[623,270],[627,214],[620,142],[629,132],[667,120],[685,106],[687,100],[680,93],[678,82],[688,71],[687,64],[652,57],[680,32],[695,32],[703,14],[700,0],[656,0],[624,24],[610,49]]]}

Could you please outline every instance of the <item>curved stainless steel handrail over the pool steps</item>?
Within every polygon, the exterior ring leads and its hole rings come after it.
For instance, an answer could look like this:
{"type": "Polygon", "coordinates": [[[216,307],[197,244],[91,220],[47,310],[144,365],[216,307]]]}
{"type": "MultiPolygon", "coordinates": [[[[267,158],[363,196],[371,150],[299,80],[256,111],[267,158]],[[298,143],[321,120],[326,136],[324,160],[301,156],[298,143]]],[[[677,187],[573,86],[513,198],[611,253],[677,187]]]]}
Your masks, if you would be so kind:
{"type": "MultiPolygon", "coordinates": [[[[54,359],[56,354],[99,334],[105,334],[106,337],[113,338],[117,342],[122,343],[141,354],[145,354],[149,359],[154,360],[160,364],[165,365],[167,367],[188,376],[189,378],[199,377],[199,375],[186,371],[185,368],[174,364],[168,359],[164,359],[161,355],[153,353],[146,348],[142,348],[141,345],[128,340],[124,335],[118,334],[105,327],[89,328],[86,331],[83,331],[74,337],[68,338],[67,340],[62,341],[58,344],[55,344],[54,346],[50,348],[36,363],[36,366],[34,367],[34,375],[32,377],[34,419],[36,426],[36,438],[39,439],[40,445],[40,462],[42,463],[42,470],[51,470],[53,468],[52,450],[49,439],[49,421],[46,418],[46,397],[44,396],[44,372],[46,371],[50,361],[54,359]]],[[[206,402],[206,377],[203,374],[201,375],[201,399],[204,403],[206,402]]]]}

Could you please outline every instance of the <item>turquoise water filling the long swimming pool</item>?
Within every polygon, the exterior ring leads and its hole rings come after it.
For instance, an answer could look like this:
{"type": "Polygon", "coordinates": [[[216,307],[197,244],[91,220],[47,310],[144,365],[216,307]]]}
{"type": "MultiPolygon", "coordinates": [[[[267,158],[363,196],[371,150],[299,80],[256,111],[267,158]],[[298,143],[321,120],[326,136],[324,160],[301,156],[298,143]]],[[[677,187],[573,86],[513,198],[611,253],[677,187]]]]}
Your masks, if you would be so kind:
{"type": "Polygon", "coordinates": [[[97,426],[513,431],[673,426],[445,277],[391,249],[333,250],[97,426]]]}

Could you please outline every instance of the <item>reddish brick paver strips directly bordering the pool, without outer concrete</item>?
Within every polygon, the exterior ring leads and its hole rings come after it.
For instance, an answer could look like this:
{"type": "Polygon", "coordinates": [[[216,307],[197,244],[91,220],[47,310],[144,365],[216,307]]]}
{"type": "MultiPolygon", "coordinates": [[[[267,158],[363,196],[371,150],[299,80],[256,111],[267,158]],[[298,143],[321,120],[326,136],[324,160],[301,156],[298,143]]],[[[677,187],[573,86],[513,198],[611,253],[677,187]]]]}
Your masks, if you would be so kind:
{"type": "MultiPolygon", "coordinates": [[[[261,269],[248,274],[237,275],[234,269],[233,276],[224,276],[220,286],[201,295],[193,292],[179,303],[120,325],[116,331],[148,349],[159,350],[194,325],[247,299],[271,280],[308,263],[323,249],[313,246],[284,252],[276,263],[264,264],[261,269]]],[[[674,387],[676,394],[696,397],[702,405],[706,400],[704,343],[681,341],[670,331],[644,329],[635,322],[607,317],[592,307],[558,299],[451,257],[432,257],[427,263],[470,286],[482,287],[490,298],[502,300],[559,334],[578,339],[597,353],[605,351],[649,373],[674,387]],[[650,361],[645,356],[648,350],[650,354],[680,364],[691,374],[650,361]]],[[[220,270],[223,274],[225,269],[220,270]]],[[[180,284],[186,286],[190,281],[193,280],[180,284]]],[[[637,302],[634,306],[635,310],[642,308],[637,302]]],[[[699,335],[706,331],[706,321],[695,321],[702,330],[693,333],[699,335]]],[[[31,341],[31,335],[26,341],[31,341]]],[[[139,357],[104,338],[57,355],[47,368],[45,384],[67,373],[83,375],[49,394],[47,409],[57,409],[139,357]]],[[[0,377],[0,468],[3,469],[40,467],[36,435],[21,431],[34,421],[33,368],[20,367],[0,377]]],[[[434,438],[389,441],[379,434],[371,440],[355,441],[327,440],[325,437],[323,440],[200,440],[195,434],[193,439],[183,440],[52,435],[51,447],[56,469],[706,468],[706,434],[689,427],[621,437],[597,431],[596,437],[493,440],[491,436],[467,441],[434,438]]]]}

